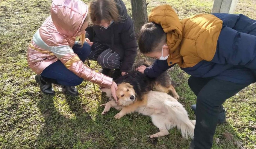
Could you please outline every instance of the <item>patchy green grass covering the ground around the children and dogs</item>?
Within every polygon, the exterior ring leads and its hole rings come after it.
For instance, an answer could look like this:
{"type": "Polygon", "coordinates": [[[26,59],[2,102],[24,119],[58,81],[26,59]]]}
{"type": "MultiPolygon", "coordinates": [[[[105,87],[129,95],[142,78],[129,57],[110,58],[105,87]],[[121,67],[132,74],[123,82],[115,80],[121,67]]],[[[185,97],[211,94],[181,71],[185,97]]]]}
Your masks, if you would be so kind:
{"type": "MultiPolygon", "coordinates": [[[[87,1],[85,1],[87,2],[87,1]]],[[[129,0],[124,0],[131,14],[129,0]]],[[[210,13],[213,0],[148,0],[148,11],[159,4],[171,4],[179,17],[210,13]]],[[[49,15],[49,0],[1,0],[0,2],[0,148],[188,148],[191,140],[184,140],[180,131],[171,129],[168,136],[149,139],[158,129],[151,119],[131,114],[116,120],[114,109],[102,116],[107,98],[93,84],[84,81],[79,97],[66,96],[54,85],[55,96],[40,92],[31,77],[34,73],[26,61],[28,44],[49,15]],[[15,14],[19,12],[19,14],[15,14]]],[[[254,0],[240,0],[236,13],[256,19],[254,0]]],[[[137,60],[143,58],[137,56],[137,60]]],[[[92,62],[92,68],[99,66],[92,62]]],[[[175,66],[172,78],[178,83],[179,100],[195,119],[190,105],[196,97],[187,85],[188,75],[175,66]]],[[[237,148],[235,140],[245,148],[256,148],[256,86],[250,85],[239,95],[225,102],[227,122],[218,125],[213,148],[237,148]],[[223,134],[231,132],[229,141],[223,134]]]]}

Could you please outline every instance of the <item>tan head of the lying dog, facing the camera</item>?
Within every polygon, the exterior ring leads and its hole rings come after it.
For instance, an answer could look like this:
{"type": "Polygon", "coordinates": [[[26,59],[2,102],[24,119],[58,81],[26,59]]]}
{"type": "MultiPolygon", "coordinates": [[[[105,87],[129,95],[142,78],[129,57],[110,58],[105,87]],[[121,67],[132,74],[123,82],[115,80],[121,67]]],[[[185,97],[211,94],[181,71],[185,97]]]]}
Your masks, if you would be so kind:
{"type": "Polygon", "coordinates": [[[135,101],[135,91],[129,83],[121,83],[116,90],[118,104],[122,106],[130,105],[135,101]]]}

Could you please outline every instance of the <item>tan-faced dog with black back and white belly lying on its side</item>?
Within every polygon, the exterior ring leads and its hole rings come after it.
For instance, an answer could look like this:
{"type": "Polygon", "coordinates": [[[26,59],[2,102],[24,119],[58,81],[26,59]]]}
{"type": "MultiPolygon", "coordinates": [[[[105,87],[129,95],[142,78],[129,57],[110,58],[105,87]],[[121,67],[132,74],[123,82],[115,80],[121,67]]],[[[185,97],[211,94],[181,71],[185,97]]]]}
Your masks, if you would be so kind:
{"type": "MultiPolygon", "coordinates": [[[[116,83],[118,101],[110,100],[100,105],[105,106],[102,115],[112,107],[121,110],[114,116],[116,119],[138,112],[150,116],[153,124],[160,130],[150,138],[168,135],[168,130],[175,126],[181,130],[184,138],[194,137],[195,121],[188,118],[187,111],[175,98],[160,91],[152,91],[152,86],[157,84],[156,80],[140,72],[131,72],[119,77],[116,83]]],[[[100,90],[106,92],[107,97],[111,97],[110,89],[100,88],[100,90]]]]}

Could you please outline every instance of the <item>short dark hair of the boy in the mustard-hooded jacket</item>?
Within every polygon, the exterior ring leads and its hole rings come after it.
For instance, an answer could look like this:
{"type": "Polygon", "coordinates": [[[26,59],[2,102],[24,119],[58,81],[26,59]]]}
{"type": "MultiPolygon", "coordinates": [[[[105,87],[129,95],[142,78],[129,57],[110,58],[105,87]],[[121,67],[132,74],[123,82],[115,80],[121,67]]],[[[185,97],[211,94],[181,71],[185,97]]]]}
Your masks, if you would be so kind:
{"type": "Polygon", "coordinates": [[[150,22],[140,29],[139,48],[143,54],[158,52],[166,43],[166,33],[161,25],[150,22]]]}

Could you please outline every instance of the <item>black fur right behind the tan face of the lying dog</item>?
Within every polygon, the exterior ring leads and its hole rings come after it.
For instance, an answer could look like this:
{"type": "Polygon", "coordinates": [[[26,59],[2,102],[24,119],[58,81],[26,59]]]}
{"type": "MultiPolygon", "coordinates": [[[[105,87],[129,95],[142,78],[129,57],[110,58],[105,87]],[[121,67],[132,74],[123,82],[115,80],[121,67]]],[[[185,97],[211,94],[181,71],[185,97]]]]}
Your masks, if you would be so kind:
{"type": "Polygon", "coordinates": [[[123,82],[131,84],[138,100],[142,100],[143,95],[152,90],[152,79],[137,71],[121,76],[115,82],[117,85],[123,82]]]}

